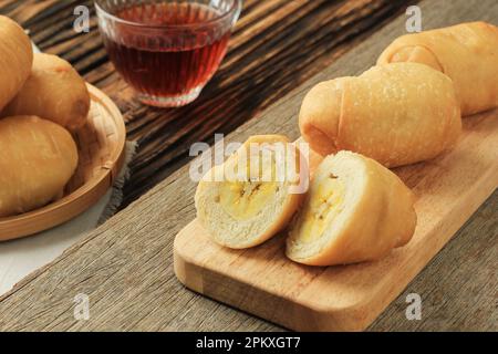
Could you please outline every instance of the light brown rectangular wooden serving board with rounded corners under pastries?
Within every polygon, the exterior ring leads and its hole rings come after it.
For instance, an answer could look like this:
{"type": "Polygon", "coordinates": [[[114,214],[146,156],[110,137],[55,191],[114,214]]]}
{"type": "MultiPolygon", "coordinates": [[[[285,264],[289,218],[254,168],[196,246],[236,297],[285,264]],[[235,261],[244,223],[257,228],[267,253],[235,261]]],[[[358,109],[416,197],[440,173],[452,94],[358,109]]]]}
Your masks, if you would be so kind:
{"type": "Polygon", "coordinates": [[[230,250],[211,242],[194,220],[175,239],[177,278],[191,290],[292,330],[364,330],[498,186],[498,111],[467,117],[464,127],[452,152],[395,170],[417,196],[418,222],[412,241],[385,259],[305,267],[286,258],[286,235],[253,249],[230,250]]]}

